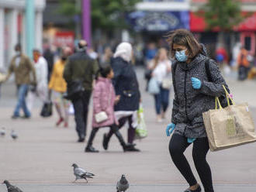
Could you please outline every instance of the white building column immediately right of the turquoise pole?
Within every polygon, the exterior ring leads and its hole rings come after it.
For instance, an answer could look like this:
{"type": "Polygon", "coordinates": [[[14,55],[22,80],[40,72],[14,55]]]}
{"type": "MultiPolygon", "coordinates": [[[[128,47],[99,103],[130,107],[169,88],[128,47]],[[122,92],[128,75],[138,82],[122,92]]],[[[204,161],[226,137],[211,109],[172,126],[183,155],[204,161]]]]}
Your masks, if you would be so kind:
{"type": "Polygon", "coordinates": [[[35,48],[42,50],[43,42],[43,12],[36,12],[35,19],[35,48]]]}

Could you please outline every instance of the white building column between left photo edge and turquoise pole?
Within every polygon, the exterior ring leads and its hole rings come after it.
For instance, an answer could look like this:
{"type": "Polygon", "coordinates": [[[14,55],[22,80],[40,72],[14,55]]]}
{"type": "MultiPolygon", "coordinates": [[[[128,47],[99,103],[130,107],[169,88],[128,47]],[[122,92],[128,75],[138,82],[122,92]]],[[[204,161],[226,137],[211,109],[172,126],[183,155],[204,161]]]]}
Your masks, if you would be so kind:
{"type": "Polygon", "coordinates": [[[18,10],[12,9],[9,12],[9,58],[8,62],[15,55],[14,46],[16,46],[18,42],[18,10]]]}

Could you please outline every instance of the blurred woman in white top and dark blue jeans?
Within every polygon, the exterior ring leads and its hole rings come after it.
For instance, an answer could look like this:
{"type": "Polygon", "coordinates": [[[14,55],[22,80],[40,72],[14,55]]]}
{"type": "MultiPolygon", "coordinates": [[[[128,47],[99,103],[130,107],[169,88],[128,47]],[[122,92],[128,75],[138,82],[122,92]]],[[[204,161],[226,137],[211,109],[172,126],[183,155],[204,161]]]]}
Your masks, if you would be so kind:
{"type": "Polygon", "coordinates": [[[165,48],[158,50],[156,57],[154,57],[148,68],[152,70],[151,76],[154,78],[152,81],[157,81],[159,86],[159,92],[154,94],[154,103],[157,122],[162,122],[168,109],[171,88],[171,77],[169,75],[171,73],[171,61],[168,60],[168,53],[165,48]]]}

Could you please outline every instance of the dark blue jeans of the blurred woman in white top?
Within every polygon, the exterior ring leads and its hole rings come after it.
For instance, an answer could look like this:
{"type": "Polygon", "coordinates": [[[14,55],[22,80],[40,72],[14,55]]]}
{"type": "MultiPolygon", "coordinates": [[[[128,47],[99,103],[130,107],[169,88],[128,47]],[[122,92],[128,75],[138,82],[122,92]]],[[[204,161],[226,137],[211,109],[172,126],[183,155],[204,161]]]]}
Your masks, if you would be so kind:
{"type": "Polygon", "coordinates": [[[157,115],[161,114],[162,111],[166,111],[169,105],[169,94],[170,90],[160,87],[160,93],[154,94],[154,104],[157,111],[157,115]]]}

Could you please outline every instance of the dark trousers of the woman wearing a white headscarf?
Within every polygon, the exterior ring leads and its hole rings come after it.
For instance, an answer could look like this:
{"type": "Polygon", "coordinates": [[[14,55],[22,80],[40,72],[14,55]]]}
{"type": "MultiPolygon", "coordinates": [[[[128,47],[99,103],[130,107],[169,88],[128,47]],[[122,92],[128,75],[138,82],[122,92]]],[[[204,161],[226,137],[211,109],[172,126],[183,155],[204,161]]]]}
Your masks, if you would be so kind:
{"type": "MultiPolygon", "coordinates": [[[[127,117],[123,117],[119,119],[119,125],[118,128],[121,129],[123,127],[123,125],[128,121],[129,124],[129,129],[128,129],[128,142],[133,143],[133,140],[135,138],[135,129],[133,128],[132,124],[133,124],[133,115],[127,116],[127,117]]],[[[108,133],[108,137],[109,139],[111,138],[111,136],[113,135],[114,132],[112,132],[112,130],[109,130],[108,133]]]]}

